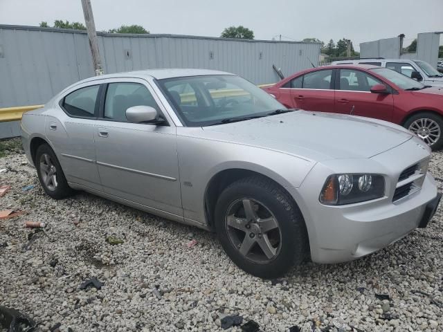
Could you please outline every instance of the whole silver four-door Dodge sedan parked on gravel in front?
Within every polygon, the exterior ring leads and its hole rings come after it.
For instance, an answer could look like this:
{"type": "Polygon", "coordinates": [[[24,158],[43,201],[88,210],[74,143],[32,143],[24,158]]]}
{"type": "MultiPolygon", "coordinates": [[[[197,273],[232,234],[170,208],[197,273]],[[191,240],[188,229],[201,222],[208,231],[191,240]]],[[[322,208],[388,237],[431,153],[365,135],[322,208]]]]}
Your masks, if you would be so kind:
{"type": "Polygon", "coordinates": [[[248,273],[363,257],[425,227],[430,150],[395,124],[285,109],[198,69],[91,77],[21,121],[45,192],[93,194],[217,232],[248,273]]]}

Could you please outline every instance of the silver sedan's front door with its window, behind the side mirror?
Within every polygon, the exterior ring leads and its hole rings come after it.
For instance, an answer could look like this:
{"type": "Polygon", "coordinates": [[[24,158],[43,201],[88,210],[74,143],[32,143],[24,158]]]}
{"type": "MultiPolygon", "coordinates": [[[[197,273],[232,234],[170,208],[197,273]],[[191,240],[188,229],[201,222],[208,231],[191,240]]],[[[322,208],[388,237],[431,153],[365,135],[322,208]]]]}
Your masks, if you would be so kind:
{"type": "Polygon", "coordinates": [[[182,217],[176,128],[168,122],[163,125],[127,122],[125,111],[133,106],[151,106],[164,114],[145,80],[113,79],[107,83],[95,127],[103,190],[182,217]]]}

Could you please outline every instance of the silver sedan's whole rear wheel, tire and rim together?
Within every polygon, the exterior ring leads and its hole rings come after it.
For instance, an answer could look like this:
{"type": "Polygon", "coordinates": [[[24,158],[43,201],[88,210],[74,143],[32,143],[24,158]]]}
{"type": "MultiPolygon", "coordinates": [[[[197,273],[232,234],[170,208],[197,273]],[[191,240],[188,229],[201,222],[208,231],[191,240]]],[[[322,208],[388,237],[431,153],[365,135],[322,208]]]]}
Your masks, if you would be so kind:
{"type": "Polygon", "coordinates": [[[49,145],[43,144],[37,148],[35,167],[40,184],[53,199],[64,199],[73,193],[64,177],[62,166],[49,145]]]}

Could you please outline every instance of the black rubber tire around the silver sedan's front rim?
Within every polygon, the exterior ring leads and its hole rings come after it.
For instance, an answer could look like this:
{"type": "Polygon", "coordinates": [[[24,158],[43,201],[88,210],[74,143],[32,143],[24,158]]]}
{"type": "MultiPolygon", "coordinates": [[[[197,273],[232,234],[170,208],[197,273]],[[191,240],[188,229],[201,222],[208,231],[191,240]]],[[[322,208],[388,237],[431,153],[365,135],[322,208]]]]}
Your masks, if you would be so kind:
{"type": "MultiPolygon", "coordinates": [[[[239,268],[256,277],[280,277],[294,265],[300,264],[308,251],[307,230],[300,209],[287,192],[263,176],[239,179],[221,192],[215,208],[215,229],[228,257],[239,268]],[[265,205],[278,221],[280,247],[275,257],[264,264],[251,261],[242,255],[239,246],[235,246],[228,234],[225,221],[228,211],[236,201],[245,198],[265,205]]],[[[247,237],[247,234],[244,237],[247,237]]]]}

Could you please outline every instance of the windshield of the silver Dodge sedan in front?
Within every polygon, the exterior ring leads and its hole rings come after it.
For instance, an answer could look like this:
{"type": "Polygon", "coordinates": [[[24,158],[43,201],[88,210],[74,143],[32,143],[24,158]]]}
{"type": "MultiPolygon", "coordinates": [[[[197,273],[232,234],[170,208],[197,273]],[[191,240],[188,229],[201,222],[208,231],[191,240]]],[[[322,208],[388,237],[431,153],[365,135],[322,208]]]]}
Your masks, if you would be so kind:
{"type": "Polygon", "coordinates": [[[287,111],[271,95],[242,77],[204,75],[159,80],[188,127],[249,120],[287,111]]]}

